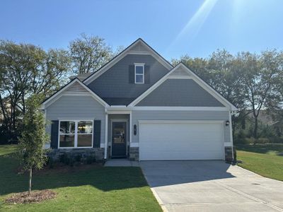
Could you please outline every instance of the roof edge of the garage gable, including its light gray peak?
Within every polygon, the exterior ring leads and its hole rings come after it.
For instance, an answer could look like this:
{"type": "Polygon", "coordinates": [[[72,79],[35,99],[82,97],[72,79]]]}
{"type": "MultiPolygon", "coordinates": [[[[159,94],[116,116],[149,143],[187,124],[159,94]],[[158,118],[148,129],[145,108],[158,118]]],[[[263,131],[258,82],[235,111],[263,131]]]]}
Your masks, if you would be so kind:
{"type": "Polygon", "coordinates": [[[229,107],[229,110],[238,110],[235,105],[233,105],[229,100],[226,100],[223,95],[218,93],[212,86],[209,86],[208,83],[206,83],[200,76],[197,75],[194,71],[190,70],[183,62],[180,62],[177,64],[171,71],[169,71],[163,78],[161,78],[159,81],[157,81],[153,86],[151,86],[148,90],[146,90],[144,93],[142,93],[138,98],[136,98],[133,102],[131,102],[128,106],[134,107],[137,105],[141,100],[146,98],[149,93],[154,91],[158,86],[160,86],[164,81],[166,81],[168,78],[192,78],[197,84],[199,84],[204,90],[206,90],[208,93],[210,93],[216,100],[219,100],[223,105],[226,107],[229,107]]]}

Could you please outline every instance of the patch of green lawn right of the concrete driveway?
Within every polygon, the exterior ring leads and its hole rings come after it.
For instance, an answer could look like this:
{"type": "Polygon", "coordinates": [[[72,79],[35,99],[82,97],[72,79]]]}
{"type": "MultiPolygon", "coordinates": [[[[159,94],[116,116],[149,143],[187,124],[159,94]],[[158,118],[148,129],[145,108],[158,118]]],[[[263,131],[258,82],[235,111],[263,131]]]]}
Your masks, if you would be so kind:
{"type": "Polygon", "coordinates": [[[238,165],[264,177],[283,181],[283,144],[237,146],[238,165]]]}

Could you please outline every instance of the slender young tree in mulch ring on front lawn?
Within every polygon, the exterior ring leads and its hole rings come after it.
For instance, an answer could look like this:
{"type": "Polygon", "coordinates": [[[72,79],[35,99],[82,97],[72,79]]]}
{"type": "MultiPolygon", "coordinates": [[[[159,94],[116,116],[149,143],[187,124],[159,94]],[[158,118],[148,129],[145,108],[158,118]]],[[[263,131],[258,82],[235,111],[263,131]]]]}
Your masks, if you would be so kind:
{"type": "Polygon", "coordinates": [[[40,100],[42,98],[38,95],[33,95],[27,101],[18,146],[23,170],[30,172],[28,194],[31,191],[33,169],[41,169],[47,160],[44,146],[48,141],[48,135],[45,131],[45,116],[39,109],[40,100]]]}

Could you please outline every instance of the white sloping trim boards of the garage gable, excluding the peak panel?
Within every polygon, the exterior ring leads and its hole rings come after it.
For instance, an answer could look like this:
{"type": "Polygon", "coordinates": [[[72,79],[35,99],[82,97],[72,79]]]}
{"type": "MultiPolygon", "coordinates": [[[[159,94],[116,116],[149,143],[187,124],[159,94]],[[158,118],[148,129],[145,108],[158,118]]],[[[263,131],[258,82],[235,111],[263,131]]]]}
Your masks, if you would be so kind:
{"type": "Polygon", "coordinates": [[[156,83],[154,83],[153,86],[151,86],[148,90],[146,90],[144,93],[142,93],[137,99],[135,99],[134,101],[132,101],[129,104],[129,107],[134,107],[135,105],[137,105],[141,100],[143,100],[144,98],[146,98],[147,95],[149,95],[149,93],[151,93],[152,91],[154,91],[158,86],[160,86],[164,81],[166,81],[168,79],[168,77],[170,76],[171,73],[173,73],[173,71],[175,71],[175,69],[178,69],[180,66],[183,66],[185,68],[185,70],[187,70],[188,73],[190,73],[190,75],[192,76],[192,79],[202,88],[204,88],[204,90],[207,90],[208,93],[210,93],[214,98],[216,98],[216,100],[219,100],[219,102],[221,102],[223,105],[225,105],[227,108],[229,108],[229,110],[237,110],[237,108],[231,104],[231,102],[229,102],[228,100],[226,100],[223,96],[221,96],[219,93],[216,92],[216,90],[214,90],[213,88],[211,88],[210,86],[207,85],[207,83],[205,83],[199,76],[197,76],[195,73],[193,73],[192,71],[190,71],[190,69],[187,68],[187,66],[185,66],[184,64],[180,63],[177,66],[175,66],[173,69],[171,69],[171,71],[169,71],[168,73],[166,73],[165,76],[163,76],[163,78],[161,78],[159,81],[157,81],[156,83]]]}

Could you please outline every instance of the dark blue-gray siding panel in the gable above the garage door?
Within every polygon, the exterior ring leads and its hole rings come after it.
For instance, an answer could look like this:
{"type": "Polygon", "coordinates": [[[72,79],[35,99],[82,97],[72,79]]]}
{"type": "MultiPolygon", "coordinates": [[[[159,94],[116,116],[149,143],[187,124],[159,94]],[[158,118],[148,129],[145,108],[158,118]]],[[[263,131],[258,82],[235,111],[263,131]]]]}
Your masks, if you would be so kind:
{"type": "Polygon", "coordinates": [[[137,106],[224,107],[192,79],[167,79],[137,106]]]}

